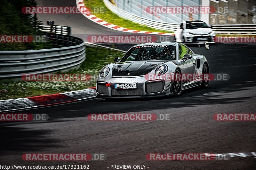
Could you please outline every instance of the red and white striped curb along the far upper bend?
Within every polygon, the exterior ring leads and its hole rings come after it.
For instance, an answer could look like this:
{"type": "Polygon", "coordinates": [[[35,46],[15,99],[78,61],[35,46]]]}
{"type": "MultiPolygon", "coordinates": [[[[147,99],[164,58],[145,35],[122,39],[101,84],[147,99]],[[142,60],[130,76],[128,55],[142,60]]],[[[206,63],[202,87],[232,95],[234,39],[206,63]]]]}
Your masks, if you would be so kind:
{"type": "Polygon", "coordinates": [[[174,33],[164,33],[164,32],[149,32],[149,31],[138,31],[138,30],[131,30],[129,28],[124,28],[118,25],[114,25],[111,23],[108,23],[104,21],[103,19],[100,19],[93,15],[84,5],[83,0],[76,0],[76,6],[78,9],[80,9],[81,14],[83,14],[86,18],[92,20],[93,22],[103,25],[105,27],[111,28],[116,31],[122,31],[122,32],[131,32],[131,33],[139,33],[139,34],[158,34],[158,35],[174,35],[174,33]]]}

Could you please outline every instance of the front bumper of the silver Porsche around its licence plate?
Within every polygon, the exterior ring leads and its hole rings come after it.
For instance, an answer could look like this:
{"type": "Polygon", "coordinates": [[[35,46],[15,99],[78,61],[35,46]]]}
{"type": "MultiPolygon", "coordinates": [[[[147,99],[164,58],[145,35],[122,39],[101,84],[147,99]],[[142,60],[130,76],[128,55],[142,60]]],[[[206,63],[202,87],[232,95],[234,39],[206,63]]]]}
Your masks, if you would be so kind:
{"type": "Polygon", "coordinates": [[[140,98],[172,95],[172,81],[164,79],[146,80],[139,77],[112,77],[109,81],[99,78],[96,91],[99,98],[140,98]],[[109,87],[107,83],[111,83],[109,87]],[[116,83],[137,83],[137,89],[115,89],[116,83]]]}

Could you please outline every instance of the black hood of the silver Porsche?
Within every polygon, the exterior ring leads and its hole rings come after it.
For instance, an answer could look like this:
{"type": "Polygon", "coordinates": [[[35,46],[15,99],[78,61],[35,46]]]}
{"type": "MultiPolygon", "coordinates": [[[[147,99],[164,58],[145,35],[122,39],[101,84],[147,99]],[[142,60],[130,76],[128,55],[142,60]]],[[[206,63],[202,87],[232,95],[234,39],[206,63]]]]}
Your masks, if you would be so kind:
{"type": "Polygon", "coordinates": [[[165,63],[163,60],[150,61],[127,61],[115,63],[112,67],[112,76],[140,76],[146,75],[155,69],[157,66],[165,63]]]}

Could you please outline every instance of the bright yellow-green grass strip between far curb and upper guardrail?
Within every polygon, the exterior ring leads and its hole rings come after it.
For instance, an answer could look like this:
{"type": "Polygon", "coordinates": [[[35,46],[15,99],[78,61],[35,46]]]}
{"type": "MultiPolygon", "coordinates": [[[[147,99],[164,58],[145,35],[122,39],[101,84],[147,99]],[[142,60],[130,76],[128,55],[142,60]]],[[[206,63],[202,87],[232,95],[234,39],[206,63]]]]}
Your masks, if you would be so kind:
{"type": "Polygon", "coordinates": [[[164,30],[157,30],[154,28],[150,28],[144,25],[140,25],[137,23],[134,23],[130,20],[124,19],[110,11],[104,4],[102,0],[84,0],[85,7],[89,7],[90,9],[98,9],[99,7],[104,7],[103,13],[93,13],[93,15],[97,16],[100,19],[103,19],[104,21],[107,21],[111,24],[115,24],[124,28],[129,28],[132,30],[138,30],[138,31],[150,31],[150,32],[170,32],[170,31],[164,31],[164,30]]]}

